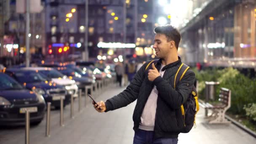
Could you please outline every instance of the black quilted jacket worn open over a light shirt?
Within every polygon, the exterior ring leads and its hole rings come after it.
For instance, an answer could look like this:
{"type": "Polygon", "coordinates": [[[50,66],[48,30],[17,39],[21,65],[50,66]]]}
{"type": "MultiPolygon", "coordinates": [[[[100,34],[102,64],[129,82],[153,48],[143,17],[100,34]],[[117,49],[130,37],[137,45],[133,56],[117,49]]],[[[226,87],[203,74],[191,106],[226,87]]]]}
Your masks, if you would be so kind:
{"type": "MultiPolygon", "coordinates": [[[[108,99],[105,104],[107,111],[125,107],[137,99],[133,112],[134,131],[139,128],[140,117],[149,94],[154,85],[158,91],[157,109],[155,116],[155,139],[158,138],[178,138],[181,128],[184,126],[184,120],[181,114],[181,104],[186,101],[189,93],[192,91],[192,85],[195,81],[195,73],[188,70],[184,77],[174,90],[174,78],[179,66],[182,64],[181,59],[163,67],[165,70],[163,77],[157,77],[153,82],[148,80],[148,67],[150,61],[147,61],[136,73],[131,84],[117,96],[108,99]]],[[[155,67],[160,70],[161,59],[157,61],[155,67]]]]}

